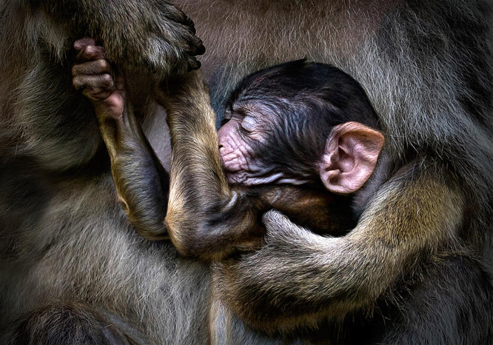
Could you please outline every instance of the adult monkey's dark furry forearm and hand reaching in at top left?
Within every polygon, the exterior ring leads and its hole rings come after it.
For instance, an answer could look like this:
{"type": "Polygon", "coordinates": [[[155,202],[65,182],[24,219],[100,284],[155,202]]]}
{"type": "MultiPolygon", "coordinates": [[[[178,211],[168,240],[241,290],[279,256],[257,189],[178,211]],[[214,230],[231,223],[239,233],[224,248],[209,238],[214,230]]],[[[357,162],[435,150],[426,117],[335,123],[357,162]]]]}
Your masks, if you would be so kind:
{"type": "Polygon", "coordinates": [[[42,6],[73,36],[96,39],[119,67],[142,68],[157,79],[200,67],[195,56],[205,48],[194,23],[170,3],[83,0],[44,1],[42,6]]]}

